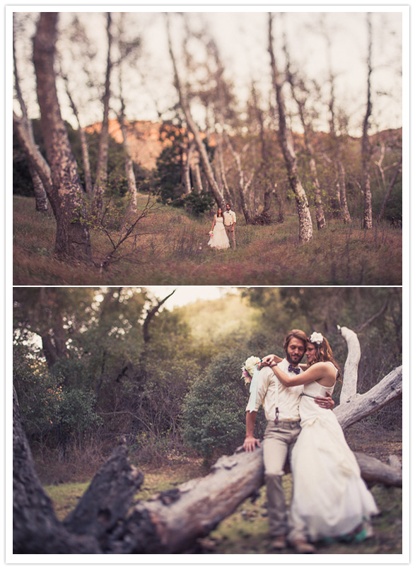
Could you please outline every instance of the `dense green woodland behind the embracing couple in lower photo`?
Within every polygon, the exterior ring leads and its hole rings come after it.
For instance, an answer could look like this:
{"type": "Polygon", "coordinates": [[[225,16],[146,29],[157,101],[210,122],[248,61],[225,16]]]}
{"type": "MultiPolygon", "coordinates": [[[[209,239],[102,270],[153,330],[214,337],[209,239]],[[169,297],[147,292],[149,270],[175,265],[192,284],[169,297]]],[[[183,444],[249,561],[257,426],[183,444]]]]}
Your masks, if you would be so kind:
{"type": "MultiPolygon", "coordinates": [[[[157,292],[157,287],[13,290],[16,401],[37,476],[62,516],[95,472],[105,470],[110,454],[114,462],[114,452],[122,448],[127,453],[122,460],[128,456],[148,480],[140,494],[144,500],[152,480],[158,480],[157,491],[168,492],[177,483],[204,476],[223,454],[235,452],[244,438],[249,394],[241,365],[252,355],[284,356],[284,336],[293,327],[327,336],[345,382],[350,346],[337,326],[357,334],[360,401],[378,385],[385,385],[386,393],[387,377],[402,363],[400,288],[232,288],[217,300],[200,298],[173,309],[165,303],[174,300],[175,289],[163,297],[157,292]],[[57,494],[59,488],[64,498],[57,494]]],[[[356,411],[361,421],[347,418],[344,428],[352,450],[383,461],[388,454],[402,454],[402,387],[399,391],[395,384],[393,390],[371,410],[356,411]]],[[[336,404],[340,391],[339,383],[336,404]]],[[[262,416],[259,437],[263,429],[262,416]]],[[[107,468],[115,476],[115,467],[107,468]]],[[[399,488],[376,481],[374,488],[387,516],[378,523],[375,545],[362,544],[357,551],[333,545],[324,553],[399,553],[399,488]]],[[[266,532],[257,526],[261,508],[244,504],[234,514],[243,524],[252,518],[244,525],[249,545],[242,545],[241,534],[235,537],[225,520],[197,552],[251,548],[267,553],[259,545],[266,532]]]]}

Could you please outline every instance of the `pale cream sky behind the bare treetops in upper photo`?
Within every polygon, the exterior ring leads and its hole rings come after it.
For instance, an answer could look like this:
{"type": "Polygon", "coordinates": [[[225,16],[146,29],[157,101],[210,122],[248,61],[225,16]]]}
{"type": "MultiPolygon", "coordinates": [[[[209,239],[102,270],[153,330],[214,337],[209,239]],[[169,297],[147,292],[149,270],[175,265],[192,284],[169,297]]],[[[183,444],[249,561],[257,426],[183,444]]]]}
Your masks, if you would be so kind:
{"type": "MultiPolygon", "coordinates": [[[[38,6],[33,6],[38,8],[38,6]]],[[[28,11],[30,6],[13,8],[28,11]]],[[[39,7],[41,9],[41,7],[39,7]]],[[[82,74],[74,72],[75,64],[68,63],[69,54],[64,44],[64,31],[68,29],[69,9],[60,15],[61,39],[64,64],[74,87],[75,97],[82,111],[85,124],[102,119],[101,106],[96,98],[88,102],[90,92],[85,88],[82,74]],[[78,81],[78,83],[77,83],[78,81]],[[81,81],[81,83],[79,83],[81,81]],[[83,82],[82,82],[83,81],[83,82]]],[[[98,77],[105,74],[106,37],[105,18],[96,6],[74,6],[80,20],[88,30],[88,39],[98,47],[95,71],[98,77]]],[[[132,35],[141,35],[143,51],[134,61],[134,66],[124,74],[124,94],[127,100],[128,119],[157,120],[156,105],[165,111],[177,101],[173,88],[172,64],[168,54],[165,18],[163,10],[177,11],[177,6],[104,6],[105,10],[129,12],[127,23],[132,35]],[[156,103],[156,104],[155,104],[156,103]]],[[[235,93],[243,108],[254,80],[262,91],[262,105],[267,108],[271,90],[269,53],[267,51],[267,11],[273,6],[182,6],[187,12],[192,27],[204,21],[221,52],[226,76],[233,78],[235,93]]],[[[336,76],[337,104],[351,117],[351,131],[359,134],[366,112],[366,81],[368,52],[368,33],[365,8],[373,11],[373,118],[380,129],[402,127],[402,6],[278,6],[279,11],[287,11],[284,16],[276,14],[274,20],[274,48],[277,63],[284,71],[284,56],[281,51],[283,31],[287,35],[293,64],[312,81],[322,86],[322,98],[318,109],[322,117],[317,125],[327,129],[328,97],[328,52],[327,42],[322,36],[321,25],[325,26],[331,42],[330,59],[336,76]],[[325,10],[322,13],[320,10],[325,10]]],[[[101,8],[102,9],[102,8],[101,8]]],[[[276,9],[276,7],[275,7],[276,9]]],[[[119,13],[113,13],[116,22],[119,13]]],[[[171,15],[173,48],[180,62],[182,47],[182,18],[171,15]]],[[[30,26],[29,26],[30,28],[30,26]]],[[[26,39],[18,46],[21,57],[30,53],[30,35],[34,25],[28,30],[26,39]],[[25,45],[24,45],[25,44],[25,45]]],[[[193,45],[194,55],[203,59],[201,47],[193,45]]],[[[37,115],[37,105],[33,89],[33,74],[30,69],[23,74],[24,90],[27,94],[30,114],[37,115]]],[[[117,84],[117,76],[112,77],[117,84]]],[[[66,97],[61,98],[64,118],[72,124],[71,111],[66,97]]],[[[113,101],[114,107],[117,101],[113,101]]],[[[193,108],[195,118],[200,122],[204,112],[193,108]]],[[[293,124],[295,127],[295,124],[293,124]]]]}

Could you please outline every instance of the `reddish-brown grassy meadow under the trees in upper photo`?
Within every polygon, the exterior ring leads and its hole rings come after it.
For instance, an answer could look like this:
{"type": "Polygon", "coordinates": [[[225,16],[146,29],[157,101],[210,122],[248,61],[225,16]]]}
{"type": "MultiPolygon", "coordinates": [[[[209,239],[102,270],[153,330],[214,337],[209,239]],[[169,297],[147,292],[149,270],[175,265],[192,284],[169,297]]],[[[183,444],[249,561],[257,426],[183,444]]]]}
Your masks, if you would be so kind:
{"type": "MultiPolygon", "coordinates": [[[[53,255],[53,216],[35,211],[34,199],[15,196],[13,283],[15,285],[400,285],[402,230],[389,223],[363,230],[329,221],[311,243],[298,245],[298,218],[284,223],[236,228],[236,250],[214,251],[206,244],[211,216],[195,219],[182,209],[156,206],[139,223],[139,236],[124,245],[105,271],[66,264],[53,255]]],[[[146,196],[139,196],[144,207],[146,196]]],[[[113,236],[115,237],[114,230],[113,236]]],[[[110,252],[103,233],[91,232],[93,259],[110,252]]]]}

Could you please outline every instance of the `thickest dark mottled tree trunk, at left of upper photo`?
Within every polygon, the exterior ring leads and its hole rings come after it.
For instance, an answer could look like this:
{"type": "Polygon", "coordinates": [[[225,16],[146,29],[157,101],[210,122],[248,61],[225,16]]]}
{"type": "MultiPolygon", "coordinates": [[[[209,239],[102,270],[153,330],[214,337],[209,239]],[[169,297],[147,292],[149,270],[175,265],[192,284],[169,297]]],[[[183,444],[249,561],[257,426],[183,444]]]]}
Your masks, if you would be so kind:
{"type": "Polygon", "coordinates": [[[41,13],[33,40],[40,124],[53,184],[52,194],[48,196],[57,220],[54,251],[59,257],[90,261],[89,231],[83,221],[83,189],[57,98],[54,75],[56,23],[57,13],[41,13]]]}

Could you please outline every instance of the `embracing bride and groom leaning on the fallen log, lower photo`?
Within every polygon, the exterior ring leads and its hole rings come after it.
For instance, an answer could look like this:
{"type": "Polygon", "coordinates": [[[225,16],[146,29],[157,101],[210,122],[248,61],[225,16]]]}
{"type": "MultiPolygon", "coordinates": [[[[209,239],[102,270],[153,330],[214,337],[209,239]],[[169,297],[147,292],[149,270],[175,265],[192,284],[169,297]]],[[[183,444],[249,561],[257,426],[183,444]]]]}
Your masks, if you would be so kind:
{"type": "Polygon", "coordinates": [[[268,421],[262,448],[271,547],[282,550],[290,544],[297,553],[315,553],[310,541],[362,541],[373,535],[370,516],[378,508],[332,412],[339,365],[319,332],[308,338],[302,330],[291,330],[284,351],[284,359],[275,354],[255,358],[243,443],[247,452],[259,446],[254,427],[262,405],[268,421]],[[307,365],[300,365],[304,353],[307,365]],[[282,484],[287,457],[293,474],[288,515],[282,484]]]}

